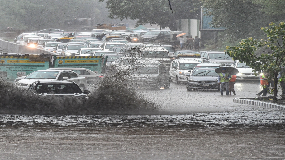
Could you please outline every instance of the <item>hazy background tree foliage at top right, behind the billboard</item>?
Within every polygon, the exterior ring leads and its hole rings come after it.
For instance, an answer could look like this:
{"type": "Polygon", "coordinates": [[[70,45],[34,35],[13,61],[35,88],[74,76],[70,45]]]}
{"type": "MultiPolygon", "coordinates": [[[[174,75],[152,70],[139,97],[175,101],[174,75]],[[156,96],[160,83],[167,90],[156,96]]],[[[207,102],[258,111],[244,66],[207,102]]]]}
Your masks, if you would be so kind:
{"type": "MultiPolygon", "coordinates": [[[[203,0],[203,7],[208,9],[206,15],[213,16],[212,26],[227,28],[225,33],[229,39],[260,38],[264,33],[260,32],[259,26],[284,20],[284,14],[282,16],[272,15],[268,10],[269,7],[274,8],[270,5],[272,1],[262,0],[268,3],[257,3],[258,1],[260,0],[203,0]],[[264,11],[268,11],[268,15],[264,11]]],[[[284,13],[282,7],[277,7],[275,10],[276,13],[284,13]]]]}

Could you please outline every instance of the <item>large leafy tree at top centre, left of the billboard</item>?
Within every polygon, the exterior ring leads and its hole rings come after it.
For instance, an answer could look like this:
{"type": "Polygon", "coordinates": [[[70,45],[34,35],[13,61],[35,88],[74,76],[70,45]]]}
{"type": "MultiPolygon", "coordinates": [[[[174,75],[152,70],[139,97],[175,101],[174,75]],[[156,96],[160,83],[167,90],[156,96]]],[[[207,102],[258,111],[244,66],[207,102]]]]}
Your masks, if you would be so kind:
{"type": "MultiPolygon", "coordinates": [[[[100,0],[104,1],[104,0],[100,0]]],[[[200,0],[171,0],[173,13],[166,0],[107,0],[107,9],[111,19],[138,20],[138,25],[157,24],[161,28],[176,30],[176,20],[200,19],[200,0]]]]}

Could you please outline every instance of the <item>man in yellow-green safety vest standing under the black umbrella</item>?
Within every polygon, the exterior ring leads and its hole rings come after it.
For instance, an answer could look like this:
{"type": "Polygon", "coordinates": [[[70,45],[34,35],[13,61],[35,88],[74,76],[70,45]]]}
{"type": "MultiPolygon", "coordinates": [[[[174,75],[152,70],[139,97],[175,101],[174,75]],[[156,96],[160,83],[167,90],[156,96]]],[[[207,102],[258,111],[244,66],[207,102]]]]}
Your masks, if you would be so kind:
{"type": "Polygon", "coordinates": [[[224,93],[224,87],[226,88],[226,95],[229,95],[229,79],[231,78],[231,75],[229,72],[227,72],[227,69],[223,68],[222,72],[218,74],[218,82],[220,84],[220,91],[221,91],[221,96],[224,93]]]}

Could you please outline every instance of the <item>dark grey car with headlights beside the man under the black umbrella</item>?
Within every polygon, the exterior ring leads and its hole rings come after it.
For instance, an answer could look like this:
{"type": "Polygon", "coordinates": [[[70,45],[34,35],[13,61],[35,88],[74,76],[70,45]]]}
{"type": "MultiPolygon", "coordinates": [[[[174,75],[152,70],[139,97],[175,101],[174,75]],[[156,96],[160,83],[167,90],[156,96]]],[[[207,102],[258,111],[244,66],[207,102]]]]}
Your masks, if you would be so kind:
{"type": "Polygon", "coordinates": [[[188,78],[186,89],[187,91],[192,91],[192,89],[217,89],[219,91],[218,73],[215,72],[215,68],[199,68],[193,71],[188,78]]]}

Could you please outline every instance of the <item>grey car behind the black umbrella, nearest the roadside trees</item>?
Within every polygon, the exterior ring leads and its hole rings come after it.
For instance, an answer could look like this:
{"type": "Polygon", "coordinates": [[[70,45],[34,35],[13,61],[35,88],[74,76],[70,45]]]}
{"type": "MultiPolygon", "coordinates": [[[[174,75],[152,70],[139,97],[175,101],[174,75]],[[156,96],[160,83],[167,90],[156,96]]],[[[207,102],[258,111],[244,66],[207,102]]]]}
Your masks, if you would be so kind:
{"type": "Polygon", "coordinates": [[[199,52],[201,58],[213,63],[224,63],[226,66],[231,66],[233,64],[233,58],[225,54],[225,52],[217,51],[201,51],[199,52]]]}

